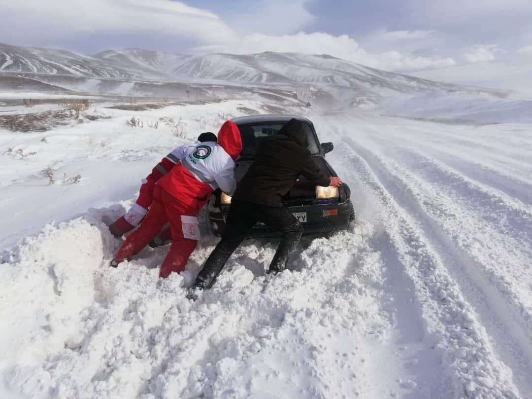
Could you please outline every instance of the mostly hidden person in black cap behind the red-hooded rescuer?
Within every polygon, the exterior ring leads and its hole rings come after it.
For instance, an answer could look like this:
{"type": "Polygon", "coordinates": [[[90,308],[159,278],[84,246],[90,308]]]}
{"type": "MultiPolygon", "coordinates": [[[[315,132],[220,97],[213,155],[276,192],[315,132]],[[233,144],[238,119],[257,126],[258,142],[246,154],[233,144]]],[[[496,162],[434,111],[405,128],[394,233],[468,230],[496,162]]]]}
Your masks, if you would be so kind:
{"type": "MultiPolygon", "coordinates": [[[[179,162],[183,156],[186,148],[207,141],[215,143],[218,141],[218,139],[214,133],[202,133],[200,136],[198,136],[197,142],[174,148],[166,157],[164,157],[161,162],[159,162],[159,164],[152,169],[152,173],[142,180],[139,196],[131,209],[129,209],[125,215],[120,216],[109,226],[111,234],[113,234],[114,237],[122,237],[122,235],[135,229],[135,227],[142,222],[144,216],[146,216],[149,206],[152,205],[153,189],[155,188],[155,183],[157,180],[168,174],[172,168],[176,166],[177,162],[179,162]]],[[[159,238],[161,239],[161,242],[169,239],[170,232],[163,232],[159,238]]]]}

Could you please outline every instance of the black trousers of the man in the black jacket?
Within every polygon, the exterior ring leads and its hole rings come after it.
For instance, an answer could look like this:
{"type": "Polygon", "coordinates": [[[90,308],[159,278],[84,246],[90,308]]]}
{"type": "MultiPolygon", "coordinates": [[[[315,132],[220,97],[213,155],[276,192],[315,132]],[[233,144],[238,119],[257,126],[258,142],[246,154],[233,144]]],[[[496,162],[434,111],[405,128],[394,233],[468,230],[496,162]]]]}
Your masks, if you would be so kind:
{"type": "Polygon", "coordinates": [[[273,208],[233,200],[222,239],[206,260],[203,270],[196,278],[194,287],[205,289],[212,286],[231,254],[257,222],[262,222],[282,232],[281,242],[268,268],[268,273],[278,273],[285,269],[290,254],[303,234],[303,227],[295,216],[285,207],[273,208]]]}

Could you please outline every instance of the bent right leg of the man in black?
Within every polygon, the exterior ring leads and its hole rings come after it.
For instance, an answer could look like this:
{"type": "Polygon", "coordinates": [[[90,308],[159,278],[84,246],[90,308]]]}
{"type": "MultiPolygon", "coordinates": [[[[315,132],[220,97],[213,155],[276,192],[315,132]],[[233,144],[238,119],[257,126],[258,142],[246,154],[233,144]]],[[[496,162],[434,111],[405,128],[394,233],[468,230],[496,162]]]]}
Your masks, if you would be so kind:
{"type": "Polygon", "coordinates": [[[286,268],[290,254],[295,250],[303,234],[303,226],[288,209],[260,207],[255,209],[258,221],[282,232],[282,238],[267,273],[277,274],[286,268]]]}

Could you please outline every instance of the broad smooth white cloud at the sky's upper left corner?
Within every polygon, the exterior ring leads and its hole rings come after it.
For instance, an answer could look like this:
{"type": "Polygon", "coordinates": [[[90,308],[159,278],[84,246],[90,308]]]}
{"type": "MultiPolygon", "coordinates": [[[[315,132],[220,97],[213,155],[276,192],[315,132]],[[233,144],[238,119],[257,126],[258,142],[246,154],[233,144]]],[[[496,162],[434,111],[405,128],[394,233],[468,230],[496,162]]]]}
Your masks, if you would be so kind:
{"type": "Polygon", "coordinates": [[[214,43],[233,35],[217,15],[170,0],[17,0],[2,4],[0,37],[12,43],[32,37],[129,31],[214,43]]]}

